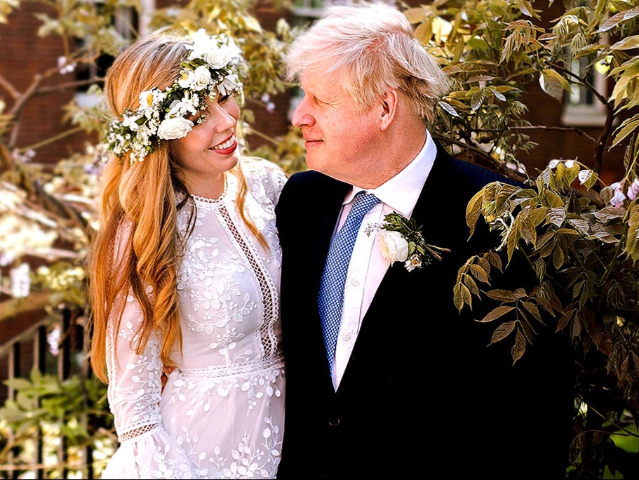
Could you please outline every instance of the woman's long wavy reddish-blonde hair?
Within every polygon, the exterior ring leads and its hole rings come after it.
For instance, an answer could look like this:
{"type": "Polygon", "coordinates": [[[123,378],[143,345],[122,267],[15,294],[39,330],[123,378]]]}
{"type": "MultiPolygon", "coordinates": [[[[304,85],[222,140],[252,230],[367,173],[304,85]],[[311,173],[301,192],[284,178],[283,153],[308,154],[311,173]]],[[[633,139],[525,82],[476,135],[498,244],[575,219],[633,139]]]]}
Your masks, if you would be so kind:
{"type": "MultiPolygon", "coordinates": [[[[127,108],[137,108],[143,91],[154,86],[164,90],[172,84],[189,43],[187,37],[157,32],[121,53],[105,79],[112,113],[121,117],[127,108]]],[[[247,187],[241,161],[231,173],[238,178],[236,202],[241,216],[267,248],[264,236],[243,208],[247,187]]],[[[108,381],[107,322],[116,321],[115,328],[119,328],[125,304],[122,299],[129,293],[140,303],[143,316],[135,351],[141,353],[154,332],[162,338],[163,364],[175,365],[171,352],[176,344],[182,350],[177,267],[186,237],[177,231],[181,208],[191,208],[193,218],[195,205],[170,161],[167,140],[160,140],[144,161],[133,165],[128,154],[122,159],[115,155],[109,159],[101,178],[97,212],[100,226],[88,256],[90,361],[95,376],[103,382],[108,381]]]]}

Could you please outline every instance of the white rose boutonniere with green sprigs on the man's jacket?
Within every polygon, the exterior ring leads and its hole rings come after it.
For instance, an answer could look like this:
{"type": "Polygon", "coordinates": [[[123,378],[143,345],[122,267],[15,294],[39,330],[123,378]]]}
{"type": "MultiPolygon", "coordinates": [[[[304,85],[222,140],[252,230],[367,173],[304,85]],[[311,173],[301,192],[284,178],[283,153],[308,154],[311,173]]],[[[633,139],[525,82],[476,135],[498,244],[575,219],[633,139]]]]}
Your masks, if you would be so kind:
{"type": "Polygon", "coordinates": [[[429,265],[433,258],[441,260],[442,253],[450,252],[449,248],[426,244],[422,226],[417,227],[414,219],[405,218],[397,212],[384,215],[382,225],[369,225],[365,233],[370,235],[373,230],[378,231],[377,242],[382,256],[391,265],[394,262],[404,262],[404,267],[409,272],[429,265]]]}

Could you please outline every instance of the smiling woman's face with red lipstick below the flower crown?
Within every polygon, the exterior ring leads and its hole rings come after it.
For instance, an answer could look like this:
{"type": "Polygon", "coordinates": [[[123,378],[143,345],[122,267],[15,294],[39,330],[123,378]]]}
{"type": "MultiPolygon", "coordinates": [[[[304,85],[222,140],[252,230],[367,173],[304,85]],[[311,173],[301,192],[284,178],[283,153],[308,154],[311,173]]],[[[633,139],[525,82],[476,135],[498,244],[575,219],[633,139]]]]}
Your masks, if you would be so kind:
{"type": "Polygon", "coordinates": [[[224,192],[224,172],[236,166],[239,160],[236,136],[240,108],[232,95],[208,101],[207,109],[199,116],[206,119],[183,138],[169,140],[171,159],[180,171],[180,177],[189,193],[217,198],[224,192]]]}

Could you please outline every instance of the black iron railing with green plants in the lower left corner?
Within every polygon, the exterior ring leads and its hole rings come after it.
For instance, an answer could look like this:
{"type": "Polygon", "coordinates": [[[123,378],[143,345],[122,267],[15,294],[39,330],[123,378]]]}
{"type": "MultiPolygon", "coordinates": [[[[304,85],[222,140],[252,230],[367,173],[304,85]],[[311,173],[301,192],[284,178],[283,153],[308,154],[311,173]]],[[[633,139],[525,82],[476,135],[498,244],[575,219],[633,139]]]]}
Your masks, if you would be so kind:
{"type": "Polygon", "coordinates": [[[99,476],[96,462],[116,438],[83,349],[81,312],[45,316],[0,343],[0,366],[0,479],[99,476]]]}

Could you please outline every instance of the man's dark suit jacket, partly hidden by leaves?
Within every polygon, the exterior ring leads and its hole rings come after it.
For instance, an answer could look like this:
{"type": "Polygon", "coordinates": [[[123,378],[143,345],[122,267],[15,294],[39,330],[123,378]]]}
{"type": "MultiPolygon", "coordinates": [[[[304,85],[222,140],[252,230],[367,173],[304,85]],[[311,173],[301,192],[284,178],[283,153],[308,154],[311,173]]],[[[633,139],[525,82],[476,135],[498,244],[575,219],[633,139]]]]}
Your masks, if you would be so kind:
{"type": "Polygon", "coordinates": [[[427,243],[452,252],[424,269],[389,268],[337,392],[317,295],[351,186],[313,171],[288,180],[276,210],[287,382],[278,478],[564,478],[574,404],[570,342],[539,327],[513,366],[512,338],[488,346],[496,325],[476,321],[495,305],[474,298],[472,312],[461,314],[453,305],[459,267],[498,245],[485,224],[468,241],[465,220],[471,196],[495,180],[510,182],[438,145],[412,217],[427,243]]]}

